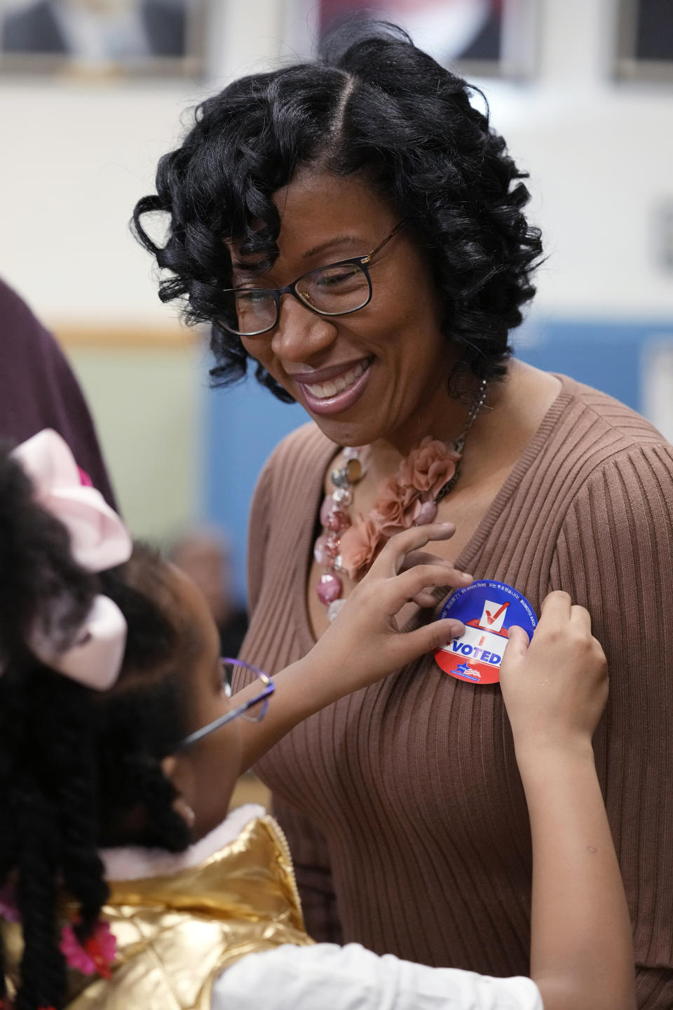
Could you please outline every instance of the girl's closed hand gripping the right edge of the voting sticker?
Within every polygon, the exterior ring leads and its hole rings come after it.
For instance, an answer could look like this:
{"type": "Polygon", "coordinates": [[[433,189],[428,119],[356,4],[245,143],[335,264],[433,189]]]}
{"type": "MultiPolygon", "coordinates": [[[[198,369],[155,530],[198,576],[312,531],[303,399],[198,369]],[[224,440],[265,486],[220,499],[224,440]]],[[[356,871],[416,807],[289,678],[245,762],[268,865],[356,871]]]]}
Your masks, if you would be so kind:
{"type": "Polygon", "coordinates": [[[519,627],[500,666],[500,687],[517,752],[590,742],[607,699],[607,667],[591,618],[567,593],[550,593],[529,644],[519,627]]]}

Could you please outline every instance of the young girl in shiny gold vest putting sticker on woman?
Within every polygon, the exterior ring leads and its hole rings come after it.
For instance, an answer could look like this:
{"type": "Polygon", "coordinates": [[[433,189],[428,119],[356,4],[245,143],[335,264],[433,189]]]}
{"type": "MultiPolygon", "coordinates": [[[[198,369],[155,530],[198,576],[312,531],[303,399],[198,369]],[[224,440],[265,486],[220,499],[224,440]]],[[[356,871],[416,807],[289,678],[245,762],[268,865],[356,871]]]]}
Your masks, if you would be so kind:
{"type": "Polygon", "coordinates": [[[395,620],[429,587],[470,581],[418,553],[452,531],[391,539],[312,651],[232,702],[205,600],[132,549],[63,440],[0,453],[6,1007],[633,1007],[591,750],[604,658],[565,594],[530,646],[512,634],[501,671],[533,833],[532,980],[310,945],[277,825],[255,808],[226,816],[240,772],[300,719],[462,631],[395,620]]]}

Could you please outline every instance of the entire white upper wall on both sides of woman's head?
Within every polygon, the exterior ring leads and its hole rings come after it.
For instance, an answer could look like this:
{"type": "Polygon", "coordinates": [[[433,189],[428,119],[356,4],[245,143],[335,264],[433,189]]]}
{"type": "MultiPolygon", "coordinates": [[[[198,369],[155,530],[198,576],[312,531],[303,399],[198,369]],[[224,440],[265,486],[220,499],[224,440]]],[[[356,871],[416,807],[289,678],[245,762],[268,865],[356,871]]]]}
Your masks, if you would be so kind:
{"type": "MultiPolygon", "coordinates": [[[[673,200],[673,87],[612,84],[616,0],[540,0],[540,70],[482,82],[492,120],[531,172],[551,259],[538,308],[671,316],[656,262],[656,211],[673,200]]],[[[156,85],[0,79],[0,272],[52,324],[161,324],[148,257],[128,234],[135,200],[180,133],[180,116],[278,53],[281,0],[214,0],[211,81],[156,85]]],[[[293,28],[301,15],[294,15],[293,28]]]]}

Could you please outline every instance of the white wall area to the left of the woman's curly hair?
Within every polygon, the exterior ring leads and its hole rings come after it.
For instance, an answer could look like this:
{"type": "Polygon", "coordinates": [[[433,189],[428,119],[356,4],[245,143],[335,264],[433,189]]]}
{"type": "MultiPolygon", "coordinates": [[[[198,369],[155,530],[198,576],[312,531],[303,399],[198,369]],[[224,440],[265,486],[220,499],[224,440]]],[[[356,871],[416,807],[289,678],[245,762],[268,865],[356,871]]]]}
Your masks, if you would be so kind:
{"type": "Polygon", "coordinates": [[[0,274],[51,325],[172,321],[128,233],[133,205],[184,110],[281,44],[276,0],[211,8],[207,85],[0,77],[0,274]]]}

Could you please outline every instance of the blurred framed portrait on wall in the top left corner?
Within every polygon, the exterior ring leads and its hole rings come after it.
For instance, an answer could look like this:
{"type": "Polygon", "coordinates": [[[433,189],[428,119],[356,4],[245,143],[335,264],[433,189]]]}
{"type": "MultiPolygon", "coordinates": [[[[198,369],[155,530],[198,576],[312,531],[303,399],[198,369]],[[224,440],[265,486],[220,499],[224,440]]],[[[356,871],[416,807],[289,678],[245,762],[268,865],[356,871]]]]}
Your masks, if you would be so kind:
{"type": "Polygon", "coordinates": [[[0,0],[0,72],[199,76],[206,0],[0,0]]]}

